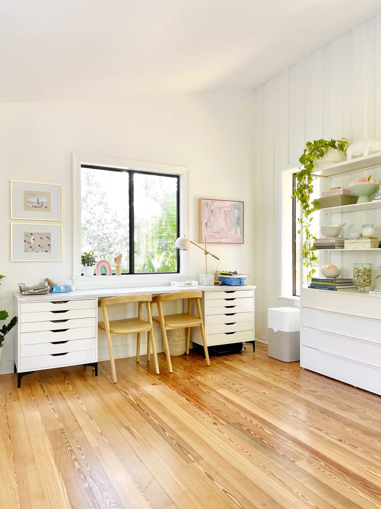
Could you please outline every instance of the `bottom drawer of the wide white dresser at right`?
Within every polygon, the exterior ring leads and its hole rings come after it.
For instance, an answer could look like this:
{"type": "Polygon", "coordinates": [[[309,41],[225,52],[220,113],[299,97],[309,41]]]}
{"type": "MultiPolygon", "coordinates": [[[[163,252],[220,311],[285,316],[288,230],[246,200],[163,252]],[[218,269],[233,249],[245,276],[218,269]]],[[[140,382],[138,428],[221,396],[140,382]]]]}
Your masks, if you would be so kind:
{"type": "Polygon", "coordinates": [[[313,348],[302,348],[302,367],[381,394],[381,369],[313,348]]]}

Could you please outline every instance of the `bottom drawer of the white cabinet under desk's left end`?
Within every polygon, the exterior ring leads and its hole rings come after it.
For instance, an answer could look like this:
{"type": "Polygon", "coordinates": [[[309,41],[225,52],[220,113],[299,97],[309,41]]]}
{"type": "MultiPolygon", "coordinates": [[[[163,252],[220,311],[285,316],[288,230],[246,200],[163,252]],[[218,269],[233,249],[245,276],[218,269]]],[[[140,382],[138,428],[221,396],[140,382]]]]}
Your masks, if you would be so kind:
{"type": "Polygon", "coordinates": [[[39,357],[22,357],[18,371],[44,370],[49,367],[73,366],[97,361],[96,350],[69,352],[59,355],[40,355],[39,357]]]}

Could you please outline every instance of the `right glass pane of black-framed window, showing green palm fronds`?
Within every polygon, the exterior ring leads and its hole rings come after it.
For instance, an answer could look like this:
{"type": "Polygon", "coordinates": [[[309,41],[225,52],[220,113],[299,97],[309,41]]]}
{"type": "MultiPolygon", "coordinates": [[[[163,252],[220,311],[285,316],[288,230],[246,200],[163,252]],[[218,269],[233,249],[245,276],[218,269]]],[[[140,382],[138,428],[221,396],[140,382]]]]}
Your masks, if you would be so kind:
{"type": "Polygon", "coordinates": [[[134,174],[135,272],[177,272],[177,177],[134,174]]]}

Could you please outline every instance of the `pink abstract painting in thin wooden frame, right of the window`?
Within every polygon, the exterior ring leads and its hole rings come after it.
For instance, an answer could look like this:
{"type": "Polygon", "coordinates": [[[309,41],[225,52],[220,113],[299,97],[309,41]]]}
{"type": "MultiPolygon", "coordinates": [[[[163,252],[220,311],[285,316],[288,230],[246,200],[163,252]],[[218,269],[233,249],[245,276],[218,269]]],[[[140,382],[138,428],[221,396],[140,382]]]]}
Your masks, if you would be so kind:
{"type": "Polygon", "coordinates": [[[199,199],[199,242],[243,244],[243,202],[199,199]]]}

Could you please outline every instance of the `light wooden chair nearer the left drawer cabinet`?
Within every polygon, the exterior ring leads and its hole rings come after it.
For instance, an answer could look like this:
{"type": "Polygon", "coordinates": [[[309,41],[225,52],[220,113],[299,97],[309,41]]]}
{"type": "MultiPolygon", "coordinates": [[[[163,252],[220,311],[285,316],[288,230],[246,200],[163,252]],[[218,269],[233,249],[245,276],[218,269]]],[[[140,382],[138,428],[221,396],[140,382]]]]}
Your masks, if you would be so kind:
{"type": "Polygon", "coordinates": [[[149,361],[151,353],[151,344],[153,351],[153,360],[155,363],[156,374],[159,374],[156,343],[153,335],[153,324],[150,302],[152,301],[152,295],[126,295],[124,297],[105,297],[98,300],[98,307],[102,307],[104,322],[98,322],[98,328],[106,331],[107,344],[109,347],[111,372],[114,383],[117,383],[114,351],[112,348],[111,336],[119,334],[132,334],[137,333],[136,343],[136,361],[139,362],[140,357],[140,335],[142,332],[147,332],[147,361],[149,361]],[[137,318],[125,318],[123,320],[111,320],[109,321],[107,306],[114,304],[124,304],[126,302],[137,302],[138,303],[138,317],[137,318]],[[147,311],[147,322],[142,320],[142,306],[145,302],[147,311]],[[152,341],[151,341],[152,340],[152,341]]]}

